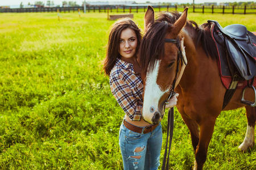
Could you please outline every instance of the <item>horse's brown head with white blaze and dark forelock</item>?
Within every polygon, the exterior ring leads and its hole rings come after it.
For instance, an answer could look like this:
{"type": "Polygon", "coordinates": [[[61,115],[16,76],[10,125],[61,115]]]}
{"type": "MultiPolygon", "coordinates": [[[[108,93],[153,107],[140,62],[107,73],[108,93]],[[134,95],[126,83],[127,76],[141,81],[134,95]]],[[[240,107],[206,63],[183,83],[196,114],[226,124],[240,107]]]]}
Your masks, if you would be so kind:
{"type": "Polygon", "coordinates": [[[150,124],[160,122],[164,103],[174,90],[181,45],[184,50],[180,31],[187,22],[187,10],[182,15],[160,14],[154,20],[154,10],[148,7],[144,16],[145,35],[139,52],[144,84],[142,116],[150,124]]]}

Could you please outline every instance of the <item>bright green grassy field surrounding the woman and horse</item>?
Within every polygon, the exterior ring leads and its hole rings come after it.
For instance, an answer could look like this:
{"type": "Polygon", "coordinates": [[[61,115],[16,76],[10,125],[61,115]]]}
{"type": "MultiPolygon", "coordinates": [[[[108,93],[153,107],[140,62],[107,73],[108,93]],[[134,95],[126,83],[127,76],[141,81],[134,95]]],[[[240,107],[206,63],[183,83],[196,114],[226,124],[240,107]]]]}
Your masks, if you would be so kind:
{"type": "MultiPolygon", "coordinates": [[[[134,14],[141,28],[143,15],[134,14]]],[[[124,113],[101,65],[113,24],[106,17],[0,14],[0,169],[122,168],[118,130],[124,113]]],[[[256,31],[255,15],[189,13],[188,19],[256,31]]],[[[256,169],[255,147],[237,150],[246,124],[243,108],[220,114],[205,169],[256,169]]],[[[170,167],[191,169],[193,160],[188,128],[175,109],[170,167]]]]}

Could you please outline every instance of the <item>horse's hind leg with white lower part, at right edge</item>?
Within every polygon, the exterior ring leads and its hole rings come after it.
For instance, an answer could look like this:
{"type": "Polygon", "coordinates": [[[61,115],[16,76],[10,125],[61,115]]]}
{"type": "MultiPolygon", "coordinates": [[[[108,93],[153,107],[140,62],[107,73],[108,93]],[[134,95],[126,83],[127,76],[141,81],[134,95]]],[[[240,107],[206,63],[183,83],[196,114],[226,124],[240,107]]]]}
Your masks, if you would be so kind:
{"type": "Polygon", "coordinates": [[[254,147],[254,128],[256,121],[256,108],[246,106],[246,116],[247,116],[247,130],[245,139],[243,139],[243,143],[238,147],[241,151],[246,151],[248,148],[254,147]]]}

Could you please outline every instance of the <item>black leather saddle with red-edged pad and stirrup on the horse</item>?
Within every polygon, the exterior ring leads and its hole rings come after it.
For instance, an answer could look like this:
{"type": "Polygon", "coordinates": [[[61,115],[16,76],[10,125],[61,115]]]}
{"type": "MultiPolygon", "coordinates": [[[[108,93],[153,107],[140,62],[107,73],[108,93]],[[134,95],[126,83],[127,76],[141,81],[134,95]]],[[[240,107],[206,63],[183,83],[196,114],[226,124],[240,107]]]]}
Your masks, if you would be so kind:
{"type": "Polygon", "coordinates": [[[214,20],[208,20],[208,23],[211,25],[211,36],[216,44],[222,83],[224,83],[224,78],[230,77],[232,79],[229,81],[230,84],[224,96],[222,109],[225,108],[232,98],[238,82],[240,84],[241,82],[245,82],[242,83],[245,86],[243,88],[241,102],[255,107],[256,36],[250,31],[247,31],[246,27],[241,24],[228,25],[222,28],[214,20]],[[254,103],[244,99],[244,93],[247,87],[254,90],[254,103]]]}

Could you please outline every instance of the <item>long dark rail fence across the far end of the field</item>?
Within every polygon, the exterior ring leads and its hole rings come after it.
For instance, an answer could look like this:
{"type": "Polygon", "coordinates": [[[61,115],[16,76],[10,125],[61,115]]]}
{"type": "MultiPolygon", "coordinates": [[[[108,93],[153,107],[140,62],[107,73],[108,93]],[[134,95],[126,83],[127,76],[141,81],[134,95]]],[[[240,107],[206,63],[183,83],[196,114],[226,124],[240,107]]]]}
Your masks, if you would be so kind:
{"type": "MultiPolygon", "coordinates": [[[[185,6],[153,6],[155,11],[169,11],[185,6]]],[[[146,6],[86,6],[86,12],[145,12],[146,6]]],[[[256,5],[251,6],[189,6],[192,12],[216,14],[256,14],[256,5]]],[[[39,8],[0,8],[0,12],[75,12],[84,7],[39,7],[39,8]]]]}

